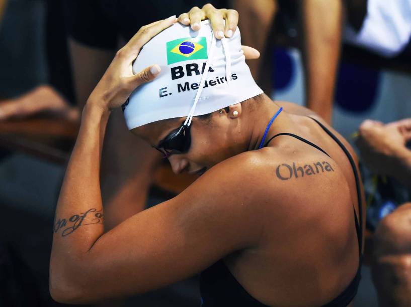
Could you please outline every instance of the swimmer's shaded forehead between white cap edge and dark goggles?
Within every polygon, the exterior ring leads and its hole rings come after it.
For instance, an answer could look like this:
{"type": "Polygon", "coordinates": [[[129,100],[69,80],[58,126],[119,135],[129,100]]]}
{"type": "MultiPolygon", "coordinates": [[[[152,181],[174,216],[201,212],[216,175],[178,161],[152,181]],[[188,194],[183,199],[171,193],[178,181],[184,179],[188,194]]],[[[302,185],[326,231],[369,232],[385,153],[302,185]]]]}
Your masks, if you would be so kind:
{"type": "Polygon", "coordinates": [[[142,137],[151,145],[157,145],[158,142],[165,138],[171,131],[179,128],[183,121],[184,117],[154,121],[131,129],[131,132],[142,137]]]}

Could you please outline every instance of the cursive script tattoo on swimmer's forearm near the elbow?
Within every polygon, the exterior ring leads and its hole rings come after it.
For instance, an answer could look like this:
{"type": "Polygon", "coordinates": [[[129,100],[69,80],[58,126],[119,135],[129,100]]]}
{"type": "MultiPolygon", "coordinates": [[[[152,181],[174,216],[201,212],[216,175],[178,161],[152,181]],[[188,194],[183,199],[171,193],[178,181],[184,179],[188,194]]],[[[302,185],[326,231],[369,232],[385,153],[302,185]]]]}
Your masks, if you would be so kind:
{"type": "Polygon", "coordinates": [[[59,218],[54,221],[53,232],[61,231],[61,236],[64,237],[73,233],[78,227],[85,225],[104,224],[103,209],[97,210],[95,208],[89,209],[80,214],[74,214],[68,219],[59,218]]]}

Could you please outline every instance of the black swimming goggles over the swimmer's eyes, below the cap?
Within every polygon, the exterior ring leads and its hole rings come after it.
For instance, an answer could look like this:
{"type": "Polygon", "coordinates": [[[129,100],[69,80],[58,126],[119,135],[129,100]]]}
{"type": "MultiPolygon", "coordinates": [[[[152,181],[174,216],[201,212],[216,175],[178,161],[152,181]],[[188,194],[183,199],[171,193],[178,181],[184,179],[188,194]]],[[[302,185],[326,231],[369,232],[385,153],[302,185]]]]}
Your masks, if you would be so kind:
{"type": "Polygon", "coordinates": [[[191,125],[186,122],[168,136],[162,139],[155,149],[161,152],[163,158],[169,158],[172,154],[184,154],[191,146],[191,125]]]}

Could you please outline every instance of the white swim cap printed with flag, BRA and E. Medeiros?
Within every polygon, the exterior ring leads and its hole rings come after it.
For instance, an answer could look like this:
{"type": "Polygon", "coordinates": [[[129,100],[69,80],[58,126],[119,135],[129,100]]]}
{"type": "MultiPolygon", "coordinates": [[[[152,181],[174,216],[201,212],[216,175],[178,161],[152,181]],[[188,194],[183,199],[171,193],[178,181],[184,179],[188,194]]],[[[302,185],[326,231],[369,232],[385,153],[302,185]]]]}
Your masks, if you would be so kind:
{"type": "Polygon", "coordinates": [[[189,125],[192,116],[263,93],[245,64],[238,28],[232,38],[217,40],[208,20],[199,31],[177,23],[153,37],[134,62],[133,72],[153,64],[161,72],[138,87],[123,105],[129,130],[185,116],[189,125]]]}

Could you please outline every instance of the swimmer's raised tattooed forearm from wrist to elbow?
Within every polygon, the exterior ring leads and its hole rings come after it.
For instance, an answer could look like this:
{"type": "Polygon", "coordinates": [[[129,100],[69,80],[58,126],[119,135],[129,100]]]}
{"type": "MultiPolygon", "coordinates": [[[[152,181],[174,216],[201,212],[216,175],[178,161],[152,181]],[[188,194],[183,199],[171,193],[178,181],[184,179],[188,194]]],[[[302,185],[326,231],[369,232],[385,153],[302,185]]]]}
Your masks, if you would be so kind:
{"type": "Polygon", "coordinates": [[[85,264],[82,257],[104,232],[99,173],[108,116],[109,112],[94,105],[84,108],[57,202],[50,259],[51,286],[64,284],[61,279],[81,271],[81,264],[85,264]]]}

